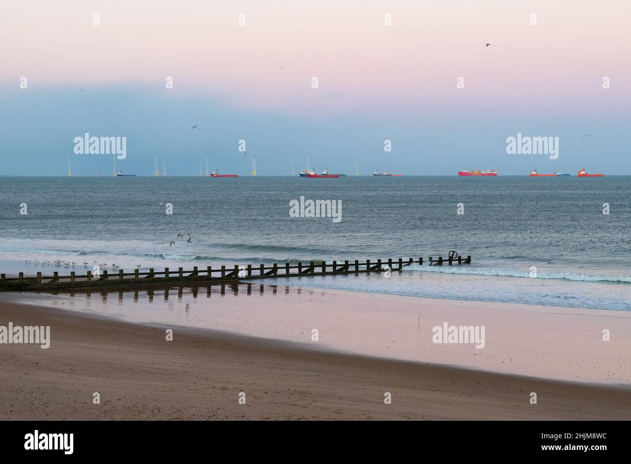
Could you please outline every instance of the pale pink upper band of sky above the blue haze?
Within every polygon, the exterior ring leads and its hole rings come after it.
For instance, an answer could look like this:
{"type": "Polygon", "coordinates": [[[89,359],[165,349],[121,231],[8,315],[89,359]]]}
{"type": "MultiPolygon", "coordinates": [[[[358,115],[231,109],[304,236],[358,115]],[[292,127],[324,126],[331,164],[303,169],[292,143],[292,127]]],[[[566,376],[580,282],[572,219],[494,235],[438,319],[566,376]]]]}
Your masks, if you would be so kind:
{"type": "Polygon", "coordinates": [[[294,112],[628,105],[629,13],[627,1],[22,1],[0,15],[0,81],[162,90],[172,76],[178,95],[294,112]]]}

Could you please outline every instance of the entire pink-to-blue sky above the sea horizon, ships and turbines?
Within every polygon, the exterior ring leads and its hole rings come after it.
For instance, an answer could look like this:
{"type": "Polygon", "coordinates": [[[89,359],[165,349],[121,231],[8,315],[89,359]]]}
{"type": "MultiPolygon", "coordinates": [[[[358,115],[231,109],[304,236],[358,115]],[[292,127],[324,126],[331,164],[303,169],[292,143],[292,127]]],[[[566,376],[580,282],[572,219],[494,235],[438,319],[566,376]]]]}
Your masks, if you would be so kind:
{"type": "Polygon", "coordinates": [[[259,175],[307,155],[348,174],[357,156],[365,175],[631,174],[630,13],[622,0],[3,2],[0,176],[66,175],[68,157],[73,175],[112,175],[111,155],[74,153],[85,133],[126,137],[116,170],[137,175],[156,156],[168,175],[199,175],[205,158],[249,175],[252,153],[259,175]],[[558,137],[558,158],[508,154],[517,133],[558,137]]]}

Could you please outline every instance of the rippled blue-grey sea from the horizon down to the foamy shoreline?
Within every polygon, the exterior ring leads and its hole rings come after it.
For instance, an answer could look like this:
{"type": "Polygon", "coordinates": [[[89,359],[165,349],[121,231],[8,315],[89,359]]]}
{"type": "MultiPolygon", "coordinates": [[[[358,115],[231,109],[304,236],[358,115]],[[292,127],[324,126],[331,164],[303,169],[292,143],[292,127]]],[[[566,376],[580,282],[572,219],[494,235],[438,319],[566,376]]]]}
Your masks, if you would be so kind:
{"type": "Polygon", "coordinates": [[[471,265],[274,283],[630,311],[631,176],[0,177],[8,275],[427,260],[451,250],[471,265]],[[292,217],[301,196],[341,201],[341,220],[292,217]]]}

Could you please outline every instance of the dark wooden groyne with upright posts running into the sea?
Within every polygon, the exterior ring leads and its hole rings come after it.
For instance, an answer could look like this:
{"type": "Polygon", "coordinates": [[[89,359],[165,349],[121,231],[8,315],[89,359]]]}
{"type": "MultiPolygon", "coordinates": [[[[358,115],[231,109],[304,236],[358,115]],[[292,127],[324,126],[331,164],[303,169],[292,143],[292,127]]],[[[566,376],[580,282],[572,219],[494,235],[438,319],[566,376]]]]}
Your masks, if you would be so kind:
{"type": "Polygon", "coordinates": [[[24,273],[20,273],[18,277],[7,278],[6,274],[0,274],[0,291],[17,291],[17,290],[61,290],[61,289],[83,289],[83,288],[102,288],[102,287],[163,287],[165,285],[206,285],[225,282],[239,282],[239,280],[253,280],[262,278],[278,278],[278,277],[310,277],[316,275],[345,275],[357,273],[383,272],[385,266],[389,266],[392,271],[402,271],[405,266],[412,264],[429,266],[452,266],[452,265],[468,265],[471,264],[471,256],[466,259],[457,256],[455,252],[450,252],[449,258],[433,259],[432,256],[427,261],[423,258],[398,258],[398,259],[367,259],[360,263],[358,259],[355,261],[333,261],[330,264],[315,261],[309,263],[299,262],[297,265],[290,263],[259,265],[259,266],[239,266],[234,265],[233,268],[221,266],[213,268],[199,268],[194,266],[192,270],[185,271],[184,268],[170,270],[164,268],[164,271],[155,271],[151,268],[148,272],[139,272],[138,269],[132,273],[119,270],[117,273],[108,273],[103,270],[100,275],[93,275],[91,271],[86,271],[85,275],[76,275],[74,271],[70,275],[59,275],[54,272],[52,276],[42,276],[41,272],[36,277],[25,277],[24,273]]]}

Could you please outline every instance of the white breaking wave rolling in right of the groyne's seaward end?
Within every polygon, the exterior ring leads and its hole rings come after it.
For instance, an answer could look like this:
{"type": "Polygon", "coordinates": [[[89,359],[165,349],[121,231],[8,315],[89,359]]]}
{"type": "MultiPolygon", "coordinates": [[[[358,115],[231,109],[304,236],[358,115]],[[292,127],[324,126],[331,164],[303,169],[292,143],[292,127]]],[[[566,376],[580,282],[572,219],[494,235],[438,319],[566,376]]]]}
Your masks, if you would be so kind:
{"type": "MultiPolygon", "coordinates": [[[[521,269],[494,269],[494,268],[454,268],[444,266],[419,266],[411,265],[407,270],[437,272],[444,274],[463,274],[463,275],[481,275],[481,276],[499,276],[499,277],[530,277],[530,270],[521,269]]],[[[562,279],[574,280],[581,282],[620,282],[631,283],[631,276],[628,275],[591,275],[576,272],[538,272],[536,278],[541,279],[562,279]]]]}

